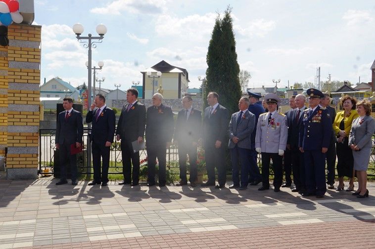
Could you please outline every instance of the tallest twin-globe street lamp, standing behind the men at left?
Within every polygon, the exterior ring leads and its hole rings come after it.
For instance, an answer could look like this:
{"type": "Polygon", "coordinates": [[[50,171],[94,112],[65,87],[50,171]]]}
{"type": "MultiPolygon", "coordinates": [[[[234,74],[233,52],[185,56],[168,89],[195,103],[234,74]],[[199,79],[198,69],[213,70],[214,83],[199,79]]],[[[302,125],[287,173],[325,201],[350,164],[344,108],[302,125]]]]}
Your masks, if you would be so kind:
{"type": "MultiPolygon", "coordinates": [[[[80,23],[76,23],[73,25],[73,32],[76,34],[76,38],[78,42],[84,43],[83,46],[85,48],[88,48],[88,97],[87,97],[87,109],[90,109],[91,107],[91,57],[92,57],[92,47],[96,47],[95,43],[101,43],[104,35],[107,33],[107,27],[105,27],[104,24],[99,24],[96,26],[96,33],[99,35],[98,37],[93,37],[90,33],[87,37],[81,37],[81,34],[83,33],[84,28],[83,25],[80,23]],[[87,40],[84,41],[84,40],[87,40]],[[97,42],[93,42],[93,40],[97,40],[97,42]]],[[[88,124],[88,129],[91,129],[91,124],[88,124]]],[[[91,171],[91,146],[90,146],[90,136],[87,136],[87,172],[89,173],[91,171]]]]}

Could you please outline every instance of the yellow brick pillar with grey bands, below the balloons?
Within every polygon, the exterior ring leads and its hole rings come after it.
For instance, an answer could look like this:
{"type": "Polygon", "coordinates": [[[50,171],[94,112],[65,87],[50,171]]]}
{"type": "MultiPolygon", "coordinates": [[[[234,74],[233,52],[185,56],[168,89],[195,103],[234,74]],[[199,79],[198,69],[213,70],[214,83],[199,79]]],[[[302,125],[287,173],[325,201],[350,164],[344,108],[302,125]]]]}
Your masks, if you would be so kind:
{"type": "Polygon", "coordinates": [[[39,166],[41,26],[10,25],[8,39],[7,177],[35,179],[39,166]]]}

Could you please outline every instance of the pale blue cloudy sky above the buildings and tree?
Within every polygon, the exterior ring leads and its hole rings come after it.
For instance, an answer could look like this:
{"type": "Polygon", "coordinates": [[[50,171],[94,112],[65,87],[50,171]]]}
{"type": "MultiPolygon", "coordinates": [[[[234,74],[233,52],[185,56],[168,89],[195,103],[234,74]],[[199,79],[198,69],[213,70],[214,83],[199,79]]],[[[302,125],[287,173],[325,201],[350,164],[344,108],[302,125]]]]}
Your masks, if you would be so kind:
{"type": "Polygon", "coordinates": [[[314,82],[371,81],[375,60],[373,0],[35,0],[34,24],[42,25],[42,80],[59,76],[77,86],[87,83],[87,48],[71,29],[83,24],[83,35],[107,26],[103,42],[93,49],[93,65],[104,61],[98,77],[104,88],[121,83],[127,89],[141,81],[141,70],[160,60],[186,68],[189,87],[199,87],[217,12],[233,7],[240,69],[251,73],[249,87],[314,82]]]}

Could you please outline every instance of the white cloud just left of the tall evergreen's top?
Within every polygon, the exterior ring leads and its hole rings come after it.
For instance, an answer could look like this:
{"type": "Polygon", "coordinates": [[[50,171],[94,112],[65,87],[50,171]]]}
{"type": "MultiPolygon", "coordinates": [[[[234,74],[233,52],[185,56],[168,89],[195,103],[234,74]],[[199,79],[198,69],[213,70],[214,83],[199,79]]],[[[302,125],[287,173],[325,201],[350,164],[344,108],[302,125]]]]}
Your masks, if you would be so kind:
{"type": "Polygon", "coordinates": [[[155,32],[159,36],[184,35],[185,37],[194,37],[201,39],[211,33],[216,13],[206,13],[205,15],[189,15],[184,18],[171,16],[168,14],[160,15],[155,22],[155,32]]]}

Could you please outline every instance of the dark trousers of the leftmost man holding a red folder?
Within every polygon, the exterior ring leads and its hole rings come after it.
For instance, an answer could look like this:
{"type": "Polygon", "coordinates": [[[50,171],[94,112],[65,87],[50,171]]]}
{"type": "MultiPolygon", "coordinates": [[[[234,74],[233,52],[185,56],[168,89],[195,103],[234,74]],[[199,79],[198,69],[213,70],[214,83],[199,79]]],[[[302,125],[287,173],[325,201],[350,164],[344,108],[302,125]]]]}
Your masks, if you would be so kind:
{"type": "Polygon", "coordinates": [[[70,155],[70,144],[66,141],[63,144],[59,144],[59,158],[60,158],[60,179],[66,180],[67,166],[69,163],[70,172],[72,174],[72,181],[77,180],[77,155],[70,155]]]}

